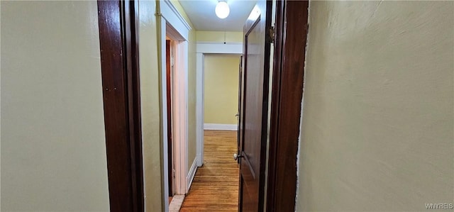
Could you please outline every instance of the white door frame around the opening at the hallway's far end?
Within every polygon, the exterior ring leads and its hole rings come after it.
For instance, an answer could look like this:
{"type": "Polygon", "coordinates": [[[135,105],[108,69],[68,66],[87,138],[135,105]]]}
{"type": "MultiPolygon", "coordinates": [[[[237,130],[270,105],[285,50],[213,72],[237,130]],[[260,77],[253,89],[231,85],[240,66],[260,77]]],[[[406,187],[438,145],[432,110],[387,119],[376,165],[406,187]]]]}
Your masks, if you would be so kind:
{"type": "MultiPolygon", "coordinates": [[[[198,167],[204,164],[205,54],[243,55],[243,43],[197,42],[196,44],[196,160],[198,167]]],[[[233,153],[236,152],[232,152],[232,155],[233,153]]]]}

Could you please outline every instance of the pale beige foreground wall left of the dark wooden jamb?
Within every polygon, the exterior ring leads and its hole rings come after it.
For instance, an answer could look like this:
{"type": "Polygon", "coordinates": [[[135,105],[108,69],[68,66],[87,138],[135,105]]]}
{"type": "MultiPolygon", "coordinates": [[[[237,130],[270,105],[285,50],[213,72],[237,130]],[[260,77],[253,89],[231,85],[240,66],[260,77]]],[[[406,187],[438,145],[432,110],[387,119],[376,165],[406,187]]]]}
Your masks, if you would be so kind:
{"type": "Polygon", "coordinates": [[[1,21],[1,211],[109,211],[96,1],[1,21]]]}

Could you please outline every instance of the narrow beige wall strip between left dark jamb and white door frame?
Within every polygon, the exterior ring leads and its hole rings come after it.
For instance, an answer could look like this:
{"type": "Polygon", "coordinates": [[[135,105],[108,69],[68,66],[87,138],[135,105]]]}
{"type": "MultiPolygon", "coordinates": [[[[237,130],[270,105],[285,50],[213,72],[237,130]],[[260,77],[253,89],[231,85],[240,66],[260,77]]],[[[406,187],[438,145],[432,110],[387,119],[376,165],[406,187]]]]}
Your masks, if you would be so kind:
{"type": "MultiPolygon", "coordinates": [[[[162,147],[160,127],[160,74],[158,69],[156,2],[139,2],[140,109],[142,113],[145,210],[163,211],[162,147]]],[[[162,38],[165,39],[165,38],[162,38]]]]}

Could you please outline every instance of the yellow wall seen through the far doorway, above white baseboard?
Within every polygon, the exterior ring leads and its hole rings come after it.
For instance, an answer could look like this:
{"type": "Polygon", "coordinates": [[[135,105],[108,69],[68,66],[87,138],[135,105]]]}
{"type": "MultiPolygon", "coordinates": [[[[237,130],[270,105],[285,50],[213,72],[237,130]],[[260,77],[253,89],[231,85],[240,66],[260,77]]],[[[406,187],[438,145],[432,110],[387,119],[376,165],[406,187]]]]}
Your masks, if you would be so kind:
{"type": "Polygon", "coordinates": [[[205,55],[204,123],[238,124],[238,55],[205,55]]]}

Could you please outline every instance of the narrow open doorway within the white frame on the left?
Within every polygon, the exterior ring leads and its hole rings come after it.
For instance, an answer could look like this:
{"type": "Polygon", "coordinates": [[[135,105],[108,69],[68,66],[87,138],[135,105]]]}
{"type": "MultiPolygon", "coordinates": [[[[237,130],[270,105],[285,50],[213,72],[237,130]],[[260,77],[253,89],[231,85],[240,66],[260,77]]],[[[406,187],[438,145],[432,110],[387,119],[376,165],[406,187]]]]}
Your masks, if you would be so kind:
{"type": "MultiPolygon", "coordinates": [[[[167,132],[167,165],[165,166],[168,196],[187,192],[187,41],[167,23],[165,30],[165,66],[162,77],[165,84],[165,128],[167,132]]],[[[163,101],[164,102],[164,101],[163,101]]],[[[164,103],[163,103],[164,104],[164,103]]]]}

